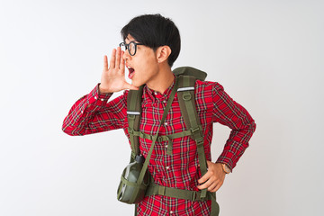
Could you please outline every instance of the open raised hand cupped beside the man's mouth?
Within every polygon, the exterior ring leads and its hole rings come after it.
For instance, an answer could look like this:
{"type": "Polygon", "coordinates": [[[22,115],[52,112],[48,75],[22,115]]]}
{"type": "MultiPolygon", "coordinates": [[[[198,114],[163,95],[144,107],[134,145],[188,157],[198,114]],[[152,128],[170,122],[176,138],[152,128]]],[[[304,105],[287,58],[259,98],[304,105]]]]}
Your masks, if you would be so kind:
{"type": "Polygon", "coordinates": [[[121,51],[121,48],[117,48],[117,50],[112,49],[112,57],[109,67],[107,56],[103,57],[103,74],[101,77],[101,84],[99,85],[100,93],[109,94],[125,89],[139,89],[138,87],[126,82],[125,60],[122,58],[122,55],[123,51],[121,51]]]}

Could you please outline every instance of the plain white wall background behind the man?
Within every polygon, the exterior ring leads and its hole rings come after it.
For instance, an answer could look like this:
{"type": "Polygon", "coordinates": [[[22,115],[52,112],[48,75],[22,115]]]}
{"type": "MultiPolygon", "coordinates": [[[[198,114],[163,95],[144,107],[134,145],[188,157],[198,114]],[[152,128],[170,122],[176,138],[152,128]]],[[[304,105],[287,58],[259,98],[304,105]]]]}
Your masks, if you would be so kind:
{"type": "MultiPolygon", "coordinates": [[[[218,192],[220,216],[322,215],[324,4],[311,0],[0,0],[0,215],[132,215],[118,202],[122,130],[70,137],[62,121],[100,82],[139,14],[172,18],[175,67],[208,72],[257,122],[218,192]]],[[[229,129],[214,127],[215,161],[229,129]]]]}

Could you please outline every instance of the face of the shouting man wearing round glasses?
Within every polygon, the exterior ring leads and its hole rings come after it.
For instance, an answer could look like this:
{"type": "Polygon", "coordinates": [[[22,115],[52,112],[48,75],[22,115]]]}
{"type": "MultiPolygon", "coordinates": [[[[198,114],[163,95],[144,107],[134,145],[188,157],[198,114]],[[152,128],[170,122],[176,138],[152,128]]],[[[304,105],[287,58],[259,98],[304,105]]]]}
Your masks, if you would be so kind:
{"type": "MultiPolygon", "coordinates": [[[[136,41],[130,34],[125,39],[128,44],[131,41],[136,41]]],[[[126,67],[129,69],[129,78],[132,85],[140,86],[148,84],[153,80],[158,72],[157,56],[153,49],[144,45],[137,45],[137,51],[134,56],[130,56],[128,50],[125,50],[122,58],[126,61],[126,67]]]]}

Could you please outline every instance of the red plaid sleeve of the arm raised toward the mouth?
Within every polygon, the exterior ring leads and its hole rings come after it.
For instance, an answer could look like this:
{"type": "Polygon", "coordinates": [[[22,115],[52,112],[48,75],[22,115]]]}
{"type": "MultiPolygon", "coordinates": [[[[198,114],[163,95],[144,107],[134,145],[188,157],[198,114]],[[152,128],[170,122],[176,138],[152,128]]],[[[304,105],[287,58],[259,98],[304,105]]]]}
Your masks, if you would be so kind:
{"type": "Polygon", "coordinates": [[[62,126],[68,135],[81,136],[123,127],[127,91],[108,103],[112,94],[99,94],[99,85],[78,99],[68,112],[62,126]]]}

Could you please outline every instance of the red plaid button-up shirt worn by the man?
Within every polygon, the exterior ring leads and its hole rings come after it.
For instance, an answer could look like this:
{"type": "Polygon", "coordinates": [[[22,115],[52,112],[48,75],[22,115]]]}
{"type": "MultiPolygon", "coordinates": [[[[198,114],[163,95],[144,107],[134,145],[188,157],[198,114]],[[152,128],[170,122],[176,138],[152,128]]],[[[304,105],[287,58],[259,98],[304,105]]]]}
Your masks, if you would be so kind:
{"type": "MultiPolygon", "coordinates": [[[[175,84],[175,82],[174,82],[175,84]]],[[[142,96],[140,130],[156,134],[162,119],[167,99],[173,88],[171,85],[164,94],[152,91],[146,85],[142,96]]],[[[108,102],[112,94],[99,94],[98,85],[90,94],[81,97],[72,106],[63,122],[63,130],[69,135],[85,135],[107,130],[123,129],[127,137],[127,94],[108,102]]],[[[224,92],[222,85],[214,82],[195,83],[195,102],[202,123],[206,159],[211,160],[212,124],[220,122],[230,129],[229,139],[217,162],[227,164],[230,169],[236,166],[238,158],[248,147],[248,140],[256,130],[256,124],[246,109],[234,102],[224,92]]],[[[185,130],[177,94],[159,135],[170,135],[185,130]]],[[[148,171],[156,184],[186,190],[198,191],[201,177],[196,143],[189,137],[173,139],[172,155],[166,154],[167,141],[156,142],[148,164],[148,171]]],[[[140,152],[148,154],[151,140],[139,138],[140,152]]],[[[139,215],[210,215],[211,201],[192,202],[161,195],[151,195],[139,203],[139,215]]]]}

